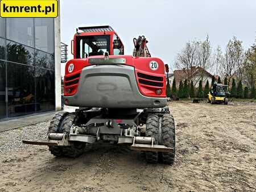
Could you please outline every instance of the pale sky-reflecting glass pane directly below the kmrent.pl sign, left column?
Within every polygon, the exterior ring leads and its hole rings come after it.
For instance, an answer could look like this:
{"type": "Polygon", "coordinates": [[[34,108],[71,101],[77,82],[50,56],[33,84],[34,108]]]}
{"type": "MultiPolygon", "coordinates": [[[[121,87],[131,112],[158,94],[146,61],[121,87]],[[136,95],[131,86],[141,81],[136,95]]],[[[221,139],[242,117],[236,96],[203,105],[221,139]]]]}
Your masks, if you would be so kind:
{"type": "Polygon", "coordinates": [[[34,47],[34,19],[33,18],[7,18],[6,38],[34,47]]]}

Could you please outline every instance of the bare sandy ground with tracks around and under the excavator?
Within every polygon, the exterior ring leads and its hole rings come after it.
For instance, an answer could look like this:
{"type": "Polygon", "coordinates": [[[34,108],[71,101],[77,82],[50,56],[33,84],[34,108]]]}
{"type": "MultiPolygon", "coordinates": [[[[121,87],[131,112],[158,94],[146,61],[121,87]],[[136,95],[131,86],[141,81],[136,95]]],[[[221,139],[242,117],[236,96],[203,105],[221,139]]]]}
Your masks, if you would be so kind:
{"type": "Polygon", "coordinates": [[[256,191],[256,105],[170,107],[173,166],[146,164],[143,154],[104,143],[73,160],[27,145],[0,153],[0,191],[256,191]]]}

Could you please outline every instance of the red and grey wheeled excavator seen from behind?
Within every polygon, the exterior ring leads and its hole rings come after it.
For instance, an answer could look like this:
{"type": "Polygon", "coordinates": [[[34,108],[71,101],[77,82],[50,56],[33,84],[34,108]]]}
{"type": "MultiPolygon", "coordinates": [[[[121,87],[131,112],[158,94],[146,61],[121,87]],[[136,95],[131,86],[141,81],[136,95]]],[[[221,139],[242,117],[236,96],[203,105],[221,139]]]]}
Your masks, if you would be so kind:
{"type": "Polygon", "coordinates": [[[112,27],[79,27],[64,77],[65,105],[79,109],[58,112],[45,141],[23,143],[77,157],[86,144],[103,140],[144,151],[147,162],[172,164],[175,123],[167,107],[165,66],[151,57],[144,36],[133,41],[133,56],[124,55],[112,27]]]}

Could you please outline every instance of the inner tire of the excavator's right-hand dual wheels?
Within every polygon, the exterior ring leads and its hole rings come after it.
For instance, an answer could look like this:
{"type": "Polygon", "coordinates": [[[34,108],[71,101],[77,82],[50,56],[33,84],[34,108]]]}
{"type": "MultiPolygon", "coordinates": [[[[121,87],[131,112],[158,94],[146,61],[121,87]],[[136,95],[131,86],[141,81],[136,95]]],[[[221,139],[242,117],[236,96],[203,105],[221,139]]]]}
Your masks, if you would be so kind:
{"type": "MultiPolygon", "coordinates": [[[[154,137],[155,144],[158,144],[158,115],[157,114],[149,114],[147,116],[146,122],[146,137],[154,137]]],[[[158,162],[158,152],[145,152],[146,161],[151,164],[156,164],[158,162]]]]}

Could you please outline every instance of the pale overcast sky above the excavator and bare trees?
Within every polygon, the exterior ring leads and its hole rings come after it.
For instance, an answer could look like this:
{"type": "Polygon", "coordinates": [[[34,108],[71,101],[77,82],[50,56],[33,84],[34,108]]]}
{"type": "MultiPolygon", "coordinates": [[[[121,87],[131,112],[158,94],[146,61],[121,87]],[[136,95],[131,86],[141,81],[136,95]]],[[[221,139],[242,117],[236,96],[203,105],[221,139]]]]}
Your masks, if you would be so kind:
{"type": "Polygon", "coordinates": [[[173,64],[187,41],[203,40],[207,34],[213,48],[225,49],[232,36],[249,48],[256,36],[256,1],[61,1],[61,41],[69,50],[76,28],[98,25],[114,28],[126,55],[133,53],[133,37],[144,35],[151,55],[173,64]]]}

